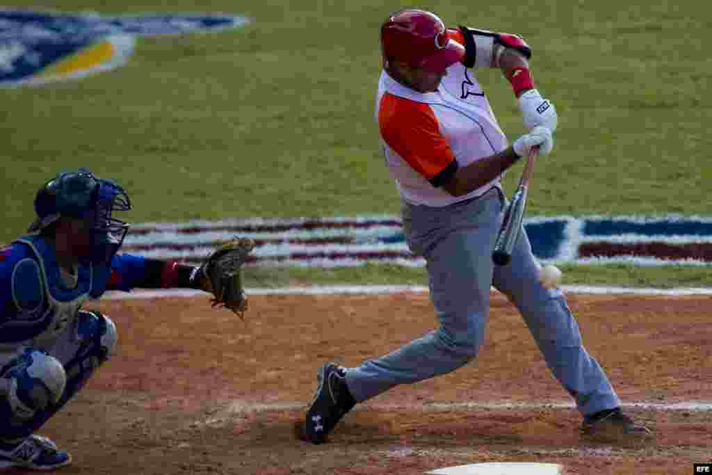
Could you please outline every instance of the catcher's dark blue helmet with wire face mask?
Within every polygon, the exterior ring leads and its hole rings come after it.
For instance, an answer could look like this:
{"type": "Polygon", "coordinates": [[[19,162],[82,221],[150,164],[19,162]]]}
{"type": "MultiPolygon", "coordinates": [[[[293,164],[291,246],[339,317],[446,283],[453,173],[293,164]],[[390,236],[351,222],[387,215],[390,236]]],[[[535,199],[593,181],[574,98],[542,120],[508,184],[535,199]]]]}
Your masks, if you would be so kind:
{"type": "Polygon", "coordinates": [[[108,264],[129,229],[125,221],[111,214],[130,209],[128,194],[115,182],[97,178],[85,168],[62,172],[38,190],[35,197],[38,218],[28,232],[41,232],[62,216],[83,219],[91,239],[88,255],[80,257],[95,264],[108,264]]]}

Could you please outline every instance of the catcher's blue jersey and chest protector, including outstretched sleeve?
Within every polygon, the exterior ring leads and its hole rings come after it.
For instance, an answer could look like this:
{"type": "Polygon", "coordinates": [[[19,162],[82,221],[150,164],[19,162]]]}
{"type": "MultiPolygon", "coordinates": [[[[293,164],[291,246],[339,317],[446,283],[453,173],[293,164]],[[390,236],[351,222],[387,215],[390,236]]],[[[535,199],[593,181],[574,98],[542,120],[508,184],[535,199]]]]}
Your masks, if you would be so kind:
{"type": "Polygon", "coordinates": [[[110,267],[80,265],[76,285],[66,288],[42,236],[14,241],[0,249],[0,355],[23,345],[47,350],[85,301],[111,289],[130,291],[144,278],[142,257],[117,254],[110,267]]]}

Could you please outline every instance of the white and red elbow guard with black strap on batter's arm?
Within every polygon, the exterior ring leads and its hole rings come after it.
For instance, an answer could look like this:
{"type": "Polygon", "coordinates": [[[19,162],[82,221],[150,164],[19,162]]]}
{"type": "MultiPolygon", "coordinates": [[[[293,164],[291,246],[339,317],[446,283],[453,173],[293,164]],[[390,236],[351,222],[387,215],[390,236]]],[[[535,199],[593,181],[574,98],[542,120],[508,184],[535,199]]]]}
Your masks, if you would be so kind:
{"type": "Polygon", "coordinates": [[[493,31],[459,27],[465,38],[465,59],[463,63],[468,68],[490,68],[499,66],[496,61],[498,52],[503,48],[512,48],[529,59],[532,49],[520,36],[511,33],[495,33],[493,31]]]}

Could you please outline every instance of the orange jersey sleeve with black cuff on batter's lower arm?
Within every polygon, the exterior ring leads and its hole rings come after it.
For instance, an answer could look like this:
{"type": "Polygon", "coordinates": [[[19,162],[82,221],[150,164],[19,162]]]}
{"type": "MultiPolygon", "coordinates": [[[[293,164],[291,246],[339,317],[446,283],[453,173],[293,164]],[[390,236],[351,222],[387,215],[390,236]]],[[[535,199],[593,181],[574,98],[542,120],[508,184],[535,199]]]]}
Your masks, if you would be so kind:
{"type": "Polygon", "coordinates": [[[434,187],[457,171],[457,161],[429,105],[385,93],[378,112],[381,137],[434,187]]]}

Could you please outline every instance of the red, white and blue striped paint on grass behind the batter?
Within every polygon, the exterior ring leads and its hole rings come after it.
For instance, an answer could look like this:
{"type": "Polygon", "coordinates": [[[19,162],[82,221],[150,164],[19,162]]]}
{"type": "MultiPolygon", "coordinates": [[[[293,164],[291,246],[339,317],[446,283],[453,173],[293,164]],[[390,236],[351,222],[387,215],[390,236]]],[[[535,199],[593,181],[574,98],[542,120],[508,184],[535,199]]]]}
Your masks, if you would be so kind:
{"type": "MultiPolygon", "coordinates": [[[[530,217],[524,226],[543,263],[712,266],[712,218],[530,217]]],[[[408,250],[399,216],[135,224],[122,251],[199,263],[236,235],[256,241],[252,266],[425,263],[408,250]]]]}

